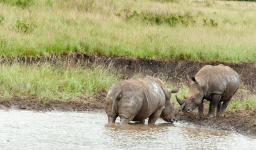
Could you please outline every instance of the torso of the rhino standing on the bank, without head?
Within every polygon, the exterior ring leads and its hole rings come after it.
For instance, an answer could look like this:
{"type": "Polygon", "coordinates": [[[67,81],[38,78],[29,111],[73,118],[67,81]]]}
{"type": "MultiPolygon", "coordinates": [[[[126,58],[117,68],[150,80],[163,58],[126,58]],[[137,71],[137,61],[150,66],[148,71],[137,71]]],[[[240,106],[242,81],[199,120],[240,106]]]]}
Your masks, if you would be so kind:
{"type": "Polygon", "coordinates": [[[222,101],[233,96],[240,83],[238,73],[223,64],[204,66],[195,75],[195,79],[205,88],[206,98],[210,94],[222,94],[222,101]]]}

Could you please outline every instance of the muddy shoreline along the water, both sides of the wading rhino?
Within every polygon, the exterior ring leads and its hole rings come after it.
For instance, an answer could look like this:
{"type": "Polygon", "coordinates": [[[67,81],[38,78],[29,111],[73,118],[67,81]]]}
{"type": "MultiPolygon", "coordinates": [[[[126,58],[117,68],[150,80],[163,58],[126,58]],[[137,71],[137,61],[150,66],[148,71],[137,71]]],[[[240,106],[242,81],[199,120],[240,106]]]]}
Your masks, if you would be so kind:
{"type": "MultiPolygon", "coordinates": [[[[0,101],[0,109],[18,109],[27,111],[64,111],[64,112],[95,112],[105,113],[105,99],[95,99],[100,104],[93,106],[83,102],[60,102],[48,101],[43,104],[39,101],[26,101],[25,99],[13,99],[11,101],[0,101]],[[95,108],[93,108],[95,107],[95,108]]],[[[204,111],[206,116],[208,109],[204,111]]],[[[196,119],[197,110],[192,113],[178,114],[179,123],[188,123],[197,128],[217,129],[226,131],[235,131],[245,136],[256,136],[256,110],[253,111],[226,111],[226,117],[196,119]],[[253,117],[254,116],[254,117],[253,117]]],[[[107,119],[107,118],[106,118],[107,119]]]]}

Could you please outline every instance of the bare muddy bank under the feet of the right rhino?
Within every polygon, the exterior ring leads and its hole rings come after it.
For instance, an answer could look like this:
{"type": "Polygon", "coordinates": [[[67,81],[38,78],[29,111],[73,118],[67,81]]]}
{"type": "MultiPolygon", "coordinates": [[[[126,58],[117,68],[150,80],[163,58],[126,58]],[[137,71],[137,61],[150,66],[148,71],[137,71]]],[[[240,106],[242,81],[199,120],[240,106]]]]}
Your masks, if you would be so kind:
{"type": "Polygon", "coordinates": [[[205,118],[195,119],[197,109],[192,113],[180,113],[181,123],[190,123],[199,128],[236,131],[240,134],[256,136],[256,111],[226,111],[225,117],[206,118],[208,109],[204,111],[205,118]]]}

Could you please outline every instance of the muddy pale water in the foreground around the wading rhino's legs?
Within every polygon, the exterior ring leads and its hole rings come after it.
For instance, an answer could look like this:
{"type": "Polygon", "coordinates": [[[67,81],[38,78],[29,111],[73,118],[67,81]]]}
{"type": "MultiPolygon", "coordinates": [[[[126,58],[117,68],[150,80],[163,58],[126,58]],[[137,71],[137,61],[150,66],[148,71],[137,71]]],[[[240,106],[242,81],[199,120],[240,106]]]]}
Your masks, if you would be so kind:
{"type": "Polygon", "coordinates": [[[108,124],[105,113],[0,109],[0,149],[256,149],[256,137],[185,123],[108,124]]]}

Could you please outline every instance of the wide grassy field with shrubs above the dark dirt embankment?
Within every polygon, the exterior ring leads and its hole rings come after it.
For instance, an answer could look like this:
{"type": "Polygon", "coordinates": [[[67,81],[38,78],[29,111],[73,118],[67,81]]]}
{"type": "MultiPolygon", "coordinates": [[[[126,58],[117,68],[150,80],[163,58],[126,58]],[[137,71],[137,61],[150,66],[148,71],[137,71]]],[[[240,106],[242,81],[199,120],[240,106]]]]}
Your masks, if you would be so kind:
{"type": "Polygon", "coordinates": [[[0,0],[0,54],[256,62],[253,2],[0,0]]]}

